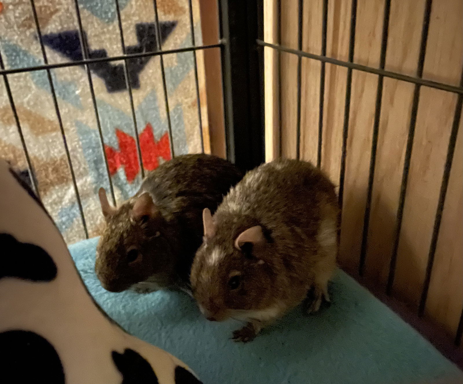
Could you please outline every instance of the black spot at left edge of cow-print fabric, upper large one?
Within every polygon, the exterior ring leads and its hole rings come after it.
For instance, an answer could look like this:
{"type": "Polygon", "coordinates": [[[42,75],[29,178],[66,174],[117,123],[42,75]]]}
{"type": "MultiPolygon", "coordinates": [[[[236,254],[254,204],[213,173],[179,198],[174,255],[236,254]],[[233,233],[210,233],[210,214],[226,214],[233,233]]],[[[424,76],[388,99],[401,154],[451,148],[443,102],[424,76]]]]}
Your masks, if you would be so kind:
{"type": "Polygon", "coordinates": [[[23,243],[12,235],[0,233],[0,279],[14,277],[31,281],[51,281],[56,278],[56,264],[41,247],[23,243]]]}

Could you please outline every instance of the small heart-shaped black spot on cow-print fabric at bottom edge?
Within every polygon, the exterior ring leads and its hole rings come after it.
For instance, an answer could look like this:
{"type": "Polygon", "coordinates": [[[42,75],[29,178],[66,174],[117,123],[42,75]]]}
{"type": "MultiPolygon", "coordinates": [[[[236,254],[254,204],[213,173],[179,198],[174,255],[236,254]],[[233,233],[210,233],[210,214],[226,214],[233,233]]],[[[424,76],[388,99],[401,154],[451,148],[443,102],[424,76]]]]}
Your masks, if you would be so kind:
{"type": "Polygon", "coordinates": [[[112,353],[114,364],[122,374],[121,384],[158,384],[156,374],[150,363],[133,349],[125,349],[124,353],[112,353]]]}

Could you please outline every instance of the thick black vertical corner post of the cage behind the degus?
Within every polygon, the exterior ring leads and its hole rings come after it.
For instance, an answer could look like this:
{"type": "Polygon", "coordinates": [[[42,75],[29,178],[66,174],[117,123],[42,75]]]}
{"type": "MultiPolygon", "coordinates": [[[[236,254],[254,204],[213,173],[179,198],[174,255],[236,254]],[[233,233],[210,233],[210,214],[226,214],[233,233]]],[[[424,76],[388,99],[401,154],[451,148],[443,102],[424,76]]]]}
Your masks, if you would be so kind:
{"type": "Polygon", "coordinates": [[[260,3],[219,1],[227,158],[242,170],[265,159],[263,52],[256,44],[263,26],[260,3]]]}

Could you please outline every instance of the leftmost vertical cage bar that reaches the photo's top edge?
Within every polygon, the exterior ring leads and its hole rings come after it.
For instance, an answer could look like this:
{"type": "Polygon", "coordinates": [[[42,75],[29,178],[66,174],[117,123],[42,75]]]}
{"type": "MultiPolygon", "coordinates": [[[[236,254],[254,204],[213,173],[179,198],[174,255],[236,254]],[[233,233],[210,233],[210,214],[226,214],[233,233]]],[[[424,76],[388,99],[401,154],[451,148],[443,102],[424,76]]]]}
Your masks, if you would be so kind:
{"type": "MultiPolygon", "coordinates": [[[[40,30],[40,25],[39,25],[39,22],[38,22],[37,9],[35,7],[34,0],[30,0],[30,2],[31,2],[31,8],[32,8],[32,15],[33,15],[34,22],[35,22],[35,27],[36,27],[36,30],[37,30],[38,41],[40,43],[40,50],[42,51],[42,56],[43,56],[43,59],[44,59],[44,64],[48,64],[47,53],[45,51],[44,42],[42,41],[42,32],[40,30]]],[[[56,118],[58,120],[58,125],[59,125],[60,131],[61,131],[61,136],[63,138],[64,150],[66,152],[66,158],[67,158],[67,161],[68,161],[68,164],[69,164],[69,171],[71,173],[72,184],[74,186],[75,198],[76,198],[77,205],[79,207],[79,212],[80,212],[80,215],[81,215],[82,227],[83,227],[84,232],[85,232],[85,237],[88,239],[87,223],[85,222],[85,215],[84,215],[84,211],[83,211],[83,207],[82,207],[81,196],[79,194],[79,189],[77,187],[77,181],[76,181],[76,178],[75,178],[74,167],[72,166],[71,155],[70,155],[70,152],[69,152],[68,143],[66,141],[66,134],[64,132],[63,120],[61,118],[61,112],[59,110],[58,100],[56,98],[55,86],[53,84],[53,78],[51,77],[50,68],[46,69],[46,73],[47,73],[48,81],[50,83],[50,92],[51,92],[51,97],[53,99],[53,105],[54,105],[55,111],[56,111],[56,118]]]]}

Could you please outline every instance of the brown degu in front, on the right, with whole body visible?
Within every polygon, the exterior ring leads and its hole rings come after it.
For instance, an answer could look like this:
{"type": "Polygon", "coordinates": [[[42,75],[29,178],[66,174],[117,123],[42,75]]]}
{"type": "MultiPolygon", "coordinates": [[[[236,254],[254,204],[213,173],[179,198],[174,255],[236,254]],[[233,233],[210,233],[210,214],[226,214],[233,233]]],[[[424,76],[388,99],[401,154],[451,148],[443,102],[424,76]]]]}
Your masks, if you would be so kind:
{"type": "Polygon", "coordinates": [[[203,212],[191,270],[201,312],[245,320],[233,338],[250,341],[308,293],[307,311],[317,311],[329,301],[338,211],[334,186],[308,162],[278,160],[248,172],[213,217],[203,212]]]}

